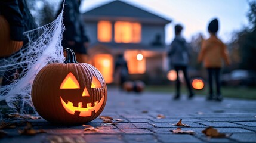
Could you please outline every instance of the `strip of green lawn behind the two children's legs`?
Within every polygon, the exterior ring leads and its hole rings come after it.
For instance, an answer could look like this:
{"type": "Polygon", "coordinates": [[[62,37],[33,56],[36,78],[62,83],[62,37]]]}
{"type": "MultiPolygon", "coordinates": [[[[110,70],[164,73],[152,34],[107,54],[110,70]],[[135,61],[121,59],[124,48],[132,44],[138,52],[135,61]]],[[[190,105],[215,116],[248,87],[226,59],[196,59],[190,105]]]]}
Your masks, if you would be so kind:
{"type": "MultiPolygon", "coordinates": [[[[145,91],[152,92],[175,92],[175,85],[163,85],[163,86],[152,86],[148,85],[145,87],[145,91]]],[[[208,88],[203,88],[202,90],[194,90],[196,95],[208,95],[208,88]]],[[[221,87],[221,92],[224,97],[233,98],[245,98],[256,100],[256,87],[255,88],[245,88],[245,87],[221,87]]],[[[187,94],[187,89],[183,85],[181,87],[181,93],[187,94]]]]}

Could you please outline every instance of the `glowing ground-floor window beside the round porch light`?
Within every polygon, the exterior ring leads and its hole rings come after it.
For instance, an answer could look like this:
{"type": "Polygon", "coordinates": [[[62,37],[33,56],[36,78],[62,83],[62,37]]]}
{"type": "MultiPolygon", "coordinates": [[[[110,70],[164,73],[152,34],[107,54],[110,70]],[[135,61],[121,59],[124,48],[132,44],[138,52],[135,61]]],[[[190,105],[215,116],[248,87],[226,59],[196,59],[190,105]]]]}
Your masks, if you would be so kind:
{"type": "Polygon", "coordinates": [[[141,60],[138,60],[137,54],[138,51],[125,51],[129,74],[144,74],[146,71],[146,59],[139,56],[141,60]]]}

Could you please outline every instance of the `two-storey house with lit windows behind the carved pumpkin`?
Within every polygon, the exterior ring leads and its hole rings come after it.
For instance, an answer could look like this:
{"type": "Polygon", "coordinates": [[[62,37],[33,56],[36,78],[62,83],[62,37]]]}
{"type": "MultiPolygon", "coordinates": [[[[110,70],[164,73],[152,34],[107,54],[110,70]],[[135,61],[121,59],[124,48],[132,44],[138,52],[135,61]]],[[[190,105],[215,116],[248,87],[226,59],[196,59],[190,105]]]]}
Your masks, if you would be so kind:
{"type": "Polygon", "coordinates": [[[123,53],[131,79],[154,81],[166,64],[165,25],[171,20],[123,1],[112,1],[83,14],[90,63],[107,83],[113,82],[118,54],[123,53]]]}

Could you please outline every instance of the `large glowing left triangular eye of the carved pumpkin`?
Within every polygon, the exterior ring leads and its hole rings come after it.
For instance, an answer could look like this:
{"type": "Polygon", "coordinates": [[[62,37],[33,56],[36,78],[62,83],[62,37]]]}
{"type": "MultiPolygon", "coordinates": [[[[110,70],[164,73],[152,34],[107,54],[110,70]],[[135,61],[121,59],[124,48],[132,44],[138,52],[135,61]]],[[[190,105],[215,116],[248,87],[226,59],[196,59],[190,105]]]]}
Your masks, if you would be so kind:
{"type": "Polygon", "coordinates": [[[60,85],[60,89],[79,89],[79,83],[78,80],[76,80],[76,77],[70,72],[67,74],[66,78],[63,80],[63,82],[60,85]]]}

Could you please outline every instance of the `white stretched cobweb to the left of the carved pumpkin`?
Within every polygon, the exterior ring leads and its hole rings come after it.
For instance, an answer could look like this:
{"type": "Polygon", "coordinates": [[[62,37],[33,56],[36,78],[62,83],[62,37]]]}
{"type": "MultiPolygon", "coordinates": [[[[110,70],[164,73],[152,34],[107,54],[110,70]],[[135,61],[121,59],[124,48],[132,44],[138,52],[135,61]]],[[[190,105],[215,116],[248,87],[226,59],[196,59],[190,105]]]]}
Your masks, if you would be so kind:
{"type": "Polygon", "coordinates": [[[42,67],[64,61],[61,46],[64,30],[62,13],[63,10],[52,23],[24,32],[29,42],[17,54],[0,59],[0,76],[6,70],[23,69],[17,80],[0,87],[0,101],[5,100],[18,113],[26,114],[29,108],[35,111],[30,94],[33,80],[42,67]]]}

